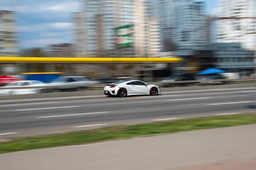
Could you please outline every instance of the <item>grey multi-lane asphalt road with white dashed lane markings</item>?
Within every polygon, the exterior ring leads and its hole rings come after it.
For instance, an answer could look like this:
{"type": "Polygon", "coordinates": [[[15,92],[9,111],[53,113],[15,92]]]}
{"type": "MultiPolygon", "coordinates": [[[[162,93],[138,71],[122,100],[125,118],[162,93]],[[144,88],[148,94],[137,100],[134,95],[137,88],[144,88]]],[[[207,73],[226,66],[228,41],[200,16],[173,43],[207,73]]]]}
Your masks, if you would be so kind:
{"type": "Polygon", "coordinates": [[[109,125],[256,112],[254,83],[246,87],[220,87],[169,92],[165,89],[159,96],[127,98],[96,95],[1,100],[0,139],[109,125]]]}

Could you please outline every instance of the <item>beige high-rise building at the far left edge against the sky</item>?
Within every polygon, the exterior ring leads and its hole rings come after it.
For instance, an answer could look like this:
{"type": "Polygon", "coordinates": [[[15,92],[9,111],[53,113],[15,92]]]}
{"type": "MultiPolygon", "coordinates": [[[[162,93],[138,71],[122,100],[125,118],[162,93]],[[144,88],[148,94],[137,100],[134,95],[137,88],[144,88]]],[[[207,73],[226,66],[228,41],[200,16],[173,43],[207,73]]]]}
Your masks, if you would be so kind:
{"type": "Polygon", "coordinates": [[[14,11],[0,11],[0,56],[18,56],[16,24],[14,11]]]}

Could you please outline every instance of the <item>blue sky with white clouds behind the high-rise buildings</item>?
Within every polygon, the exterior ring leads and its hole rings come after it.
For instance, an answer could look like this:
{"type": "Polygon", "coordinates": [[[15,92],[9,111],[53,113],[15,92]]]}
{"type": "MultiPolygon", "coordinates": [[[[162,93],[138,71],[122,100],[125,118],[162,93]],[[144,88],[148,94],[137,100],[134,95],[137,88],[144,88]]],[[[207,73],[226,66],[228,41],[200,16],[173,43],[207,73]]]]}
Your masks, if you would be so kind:
{"type": "MultiPolygon", "coordinates": [[[[73,42],[72,12],[81,12],[82,0],[0,1],[0,10],[17,11],[21,48],[73,42]]],[[[216,0],[204,1],[208,13],[215,13],[216,0]]]]}

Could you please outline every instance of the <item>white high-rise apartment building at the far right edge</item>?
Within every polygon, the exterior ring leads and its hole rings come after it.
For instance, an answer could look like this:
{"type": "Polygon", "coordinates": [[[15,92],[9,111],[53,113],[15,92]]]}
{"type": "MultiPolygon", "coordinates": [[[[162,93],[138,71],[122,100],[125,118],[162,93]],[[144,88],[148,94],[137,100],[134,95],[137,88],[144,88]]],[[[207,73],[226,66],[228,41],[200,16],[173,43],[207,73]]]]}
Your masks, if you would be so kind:
{"type": "Polygon", "coordinates": [[[218,42],[238,42],[256,48],[256,0],[218,0],[218,42]],[[253,18],[254,17],[254,18],[253,18]],[[234,19],[230,19],[234,18],[234,19]]]}

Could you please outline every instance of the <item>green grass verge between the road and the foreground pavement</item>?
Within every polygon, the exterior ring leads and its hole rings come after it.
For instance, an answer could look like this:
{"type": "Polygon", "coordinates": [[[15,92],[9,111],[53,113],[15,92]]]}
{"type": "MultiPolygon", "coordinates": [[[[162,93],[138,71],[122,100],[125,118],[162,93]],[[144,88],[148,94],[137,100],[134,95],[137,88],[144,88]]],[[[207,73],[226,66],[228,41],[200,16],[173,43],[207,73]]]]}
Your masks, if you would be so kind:
{"type": "Polygon", "coordinates": [[[111,126],[71,133],[12,139],[9,142],[0,143],[0,153],[248,124],[256,124],[256,113],[111,126]]]}

